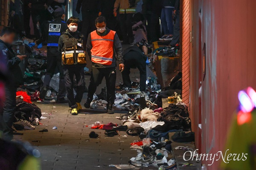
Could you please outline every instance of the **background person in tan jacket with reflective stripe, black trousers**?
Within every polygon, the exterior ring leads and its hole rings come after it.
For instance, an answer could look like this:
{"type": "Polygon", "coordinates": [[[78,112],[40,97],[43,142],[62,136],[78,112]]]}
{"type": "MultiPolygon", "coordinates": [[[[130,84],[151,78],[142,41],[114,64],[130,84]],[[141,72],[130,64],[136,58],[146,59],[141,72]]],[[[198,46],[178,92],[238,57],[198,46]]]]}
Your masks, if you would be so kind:
{"type": "Polygon", "coordinates": [[[140,0],[116,0],[114,4],[114,14],[119,8],[120,27],[122,32],[122,44],[130,44],[133,42],[132,17],[136,14],[136,4],[140,0]]]}

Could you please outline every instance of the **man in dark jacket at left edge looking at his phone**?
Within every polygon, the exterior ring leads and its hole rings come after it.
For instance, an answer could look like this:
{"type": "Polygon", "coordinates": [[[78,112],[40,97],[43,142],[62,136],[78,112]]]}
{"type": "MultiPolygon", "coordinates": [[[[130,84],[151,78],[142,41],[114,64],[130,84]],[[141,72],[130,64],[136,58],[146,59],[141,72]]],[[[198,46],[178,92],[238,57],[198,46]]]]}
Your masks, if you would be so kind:
{"type": "MultiPolygon", "coordinates": [[[[5,102],[0,111],[0,130],[3,131],[3,139],[12,140],[12,123],[16,106],[16,90],[23,84],[23,75],[19,63],[26,55],[15,55],[12,50],[12,42],[15,37],[15,30],[4,27],[0,33],[0,56],[6,61],[9,69],[9,82],[5,86],[5,102]]],[[[2,67],[2,66],[1,66],[2,67]]]]}

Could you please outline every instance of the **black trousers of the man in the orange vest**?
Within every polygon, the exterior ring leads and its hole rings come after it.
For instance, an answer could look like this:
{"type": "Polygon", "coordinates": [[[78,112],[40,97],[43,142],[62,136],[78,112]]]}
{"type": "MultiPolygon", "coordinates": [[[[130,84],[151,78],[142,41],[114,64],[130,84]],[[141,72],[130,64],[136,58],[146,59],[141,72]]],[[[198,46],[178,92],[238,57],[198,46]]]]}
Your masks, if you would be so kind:
{"type": "Polygon", "coordinates": [[[90,77],[90,84],[88,87],[87,102],[93,100],[93,94],[96,92],[97,87],[102,83],[102,79],[105,77],[107,86],[107,102],[114,104],[116,99],[116,68],[92,68],[92,74],[90,77]]]}

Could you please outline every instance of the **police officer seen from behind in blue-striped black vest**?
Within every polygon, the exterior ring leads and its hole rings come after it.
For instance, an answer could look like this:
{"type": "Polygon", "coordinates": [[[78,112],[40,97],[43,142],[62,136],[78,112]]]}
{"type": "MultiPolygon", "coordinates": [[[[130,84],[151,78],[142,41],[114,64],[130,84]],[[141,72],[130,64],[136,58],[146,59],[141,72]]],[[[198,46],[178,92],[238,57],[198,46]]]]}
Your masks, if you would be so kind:
{"type": "MultiPolygon", "coordinates": [[[[59,91],[57,103],[67,103],[65,81],[63,68],[61,65],[61,52],[58,51],[58,39],[61,34],[67,30],[67,23],[64,22],[65,11],[63,8],[57,8],[54,11],[55,20],[49,22],[45,27],[43,45],[47,45],[47,72],[44,78],[44,87],[40,92],[40,98],[44,99],[50,85],[51,78],[55,73],[55,68],[60,72],[59,91]]],[[[39,42],[38,42],[39,43],[39,42]]]]}

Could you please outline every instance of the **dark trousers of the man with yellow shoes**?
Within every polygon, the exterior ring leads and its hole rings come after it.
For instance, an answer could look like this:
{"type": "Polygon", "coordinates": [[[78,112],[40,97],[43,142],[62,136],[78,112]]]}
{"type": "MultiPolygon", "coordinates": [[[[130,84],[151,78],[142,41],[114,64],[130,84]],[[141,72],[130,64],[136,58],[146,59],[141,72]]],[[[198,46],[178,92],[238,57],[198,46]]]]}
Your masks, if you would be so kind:
{"type": "Polygon", "coordinates": [[[70,108],[77,108],[76,103],[80,103],[83,94],[85,91],[85,82],[84,82],[84,67],[69,67],[64,68],[64,79],[65,79],[65,86],[67,89],[67,99],[70,108]],[[74,85],[75,80],[74,76],[76,77],[76,96],[74,96],[74,85]]]}

